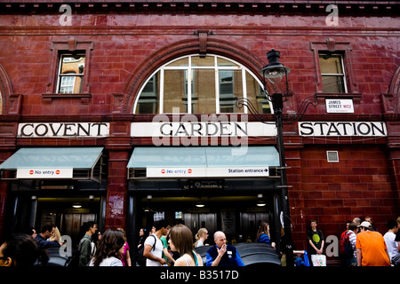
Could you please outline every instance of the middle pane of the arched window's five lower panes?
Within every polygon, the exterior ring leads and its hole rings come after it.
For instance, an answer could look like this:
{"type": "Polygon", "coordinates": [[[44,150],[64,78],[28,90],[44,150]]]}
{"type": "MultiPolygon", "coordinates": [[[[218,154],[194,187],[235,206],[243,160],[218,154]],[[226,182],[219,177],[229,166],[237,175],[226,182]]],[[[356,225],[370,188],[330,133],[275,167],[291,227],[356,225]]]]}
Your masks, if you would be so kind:
{"type": "Polygon", "coordinates": [[[192,114],[215,114],[215,71],[193,70],[192,114]]]}

